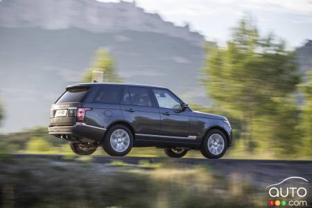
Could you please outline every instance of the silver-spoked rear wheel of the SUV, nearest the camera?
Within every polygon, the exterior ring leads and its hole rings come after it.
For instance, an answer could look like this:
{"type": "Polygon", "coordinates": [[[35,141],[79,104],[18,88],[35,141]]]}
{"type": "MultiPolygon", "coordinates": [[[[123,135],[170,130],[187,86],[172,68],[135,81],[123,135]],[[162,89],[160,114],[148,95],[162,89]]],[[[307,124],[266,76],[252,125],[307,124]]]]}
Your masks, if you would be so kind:
{"type": "Polygon", "coordinates": [[[133,146],[133,135],[128,127],[125,125],[113,125],[103,142],[103,149],[111,156],[127,155],[133,146]]]}

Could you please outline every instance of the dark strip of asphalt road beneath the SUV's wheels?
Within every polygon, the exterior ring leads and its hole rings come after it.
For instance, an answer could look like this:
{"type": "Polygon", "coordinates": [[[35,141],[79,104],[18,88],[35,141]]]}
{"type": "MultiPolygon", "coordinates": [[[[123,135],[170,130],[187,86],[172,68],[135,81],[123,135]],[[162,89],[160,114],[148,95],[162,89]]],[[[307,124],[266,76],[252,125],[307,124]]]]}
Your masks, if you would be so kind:
{"type": "MultiPolygon", "coordinates": [[[[62,162],[66,155],[41,154],[12,154],[12,157],[47,159],[53,162],[62,162]]],[[[76,162],[81,156],[73,155],[66,162],[76,162]]],[[[168,157],[110,157],[88,156],[94,164],[112,164],[123,162],[137,165],[140,162],[149,164],[164,163],[177,168],[192,168],[193,166],[208,166],[218,175],[231,177],[236,175],[238,180],[245,180],[246,175],[252,177],[253,184],[266,187],[270,182],[277,182],[286,177],[300,176],[312,181],[312,161],[304,160],[268,160],[268,159],[199,159],[199,158],[168,158],[168,157]]],[[[310,183],[311,184],[311,183],[310,183]]]]}

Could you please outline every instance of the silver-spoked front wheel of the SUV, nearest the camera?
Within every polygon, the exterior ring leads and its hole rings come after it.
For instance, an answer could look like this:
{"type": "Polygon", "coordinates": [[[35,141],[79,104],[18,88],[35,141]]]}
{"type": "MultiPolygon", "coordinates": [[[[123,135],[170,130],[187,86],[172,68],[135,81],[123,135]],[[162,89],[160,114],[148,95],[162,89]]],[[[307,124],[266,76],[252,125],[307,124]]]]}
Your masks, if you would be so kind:
{"type": "Polygon", "coordinates": [[[200,152],[204,157],[217,159],[222,157],[227,150],[227,137],[217,129],[210,130],[202,141],[200,152]],[[210,139],[210,140],[209,140],[210,139]],[[222,149],[223,147],[223,149],[222,149]]]}

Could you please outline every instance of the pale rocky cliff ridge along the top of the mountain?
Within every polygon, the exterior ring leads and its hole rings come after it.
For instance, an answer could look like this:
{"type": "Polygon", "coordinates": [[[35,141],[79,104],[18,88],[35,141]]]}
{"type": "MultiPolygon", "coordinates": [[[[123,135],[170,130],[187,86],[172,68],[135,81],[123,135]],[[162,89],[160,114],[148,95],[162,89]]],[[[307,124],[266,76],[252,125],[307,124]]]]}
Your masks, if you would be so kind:
{"type": "Polygon", "coordinates": [[[144,12],[134,2],[103,3],[95,0],[2,0],[0,26],[49,30],[81,28],[96,33],[122,30],[162,33],[198,46],[204,37],[189,26],[174,26],[155,13],[144,12]]]}

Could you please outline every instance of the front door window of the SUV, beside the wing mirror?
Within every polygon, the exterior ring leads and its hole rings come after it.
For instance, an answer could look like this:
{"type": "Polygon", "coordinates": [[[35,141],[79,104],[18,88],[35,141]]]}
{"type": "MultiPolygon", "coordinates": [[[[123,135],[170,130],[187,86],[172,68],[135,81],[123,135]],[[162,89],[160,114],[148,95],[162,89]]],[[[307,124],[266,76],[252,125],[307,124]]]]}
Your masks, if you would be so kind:
{"type": "Polygon", "coordinates": [[[166,89],[153,89],[159,107],[179,109],[180,101],[166,89]]]}

